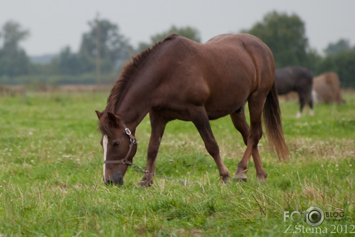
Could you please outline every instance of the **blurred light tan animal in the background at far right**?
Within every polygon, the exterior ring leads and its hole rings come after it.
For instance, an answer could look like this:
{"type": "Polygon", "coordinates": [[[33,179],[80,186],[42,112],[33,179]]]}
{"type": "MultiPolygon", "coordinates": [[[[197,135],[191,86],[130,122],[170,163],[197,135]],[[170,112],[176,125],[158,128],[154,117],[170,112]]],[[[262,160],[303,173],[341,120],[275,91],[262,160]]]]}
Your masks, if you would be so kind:
{"type": "Polygon", "coordinates": [[[344,104],[339,76],[335,72],[324,72],[313,78],[312,98],[315,103],[344,104]]]}

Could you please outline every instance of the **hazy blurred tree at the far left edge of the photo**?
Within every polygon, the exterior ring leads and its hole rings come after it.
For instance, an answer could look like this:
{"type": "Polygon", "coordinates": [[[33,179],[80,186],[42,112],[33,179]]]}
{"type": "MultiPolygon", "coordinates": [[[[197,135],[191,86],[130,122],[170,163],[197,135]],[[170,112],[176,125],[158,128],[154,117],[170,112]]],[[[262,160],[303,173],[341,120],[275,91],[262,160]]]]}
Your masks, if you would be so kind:
{"type": "Polygon", "coordinates": [[[29,36],[17,22],[8,21],[2,27],[0,36],[3,46],[0,48],[0,75],[17,76],[30,71],[30,60],[19,43],[29,36]]]}

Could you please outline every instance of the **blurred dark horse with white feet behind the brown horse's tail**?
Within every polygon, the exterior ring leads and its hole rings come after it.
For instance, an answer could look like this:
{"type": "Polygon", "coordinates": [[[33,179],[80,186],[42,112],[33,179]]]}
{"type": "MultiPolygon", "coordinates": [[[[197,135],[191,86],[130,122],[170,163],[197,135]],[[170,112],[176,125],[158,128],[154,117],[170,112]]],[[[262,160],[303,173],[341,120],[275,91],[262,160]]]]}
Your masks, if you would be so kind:
{"type": "Polygon", "coordinates": [[[275,70],[275,85],[279,95],[296,91],[299,97],[300,109],[296,117],[301,116],[304,105],[309,104],[310,115],[313,115],[312,101],[313,76],[311,72],[301,66],[289,66],[275,70]]]}

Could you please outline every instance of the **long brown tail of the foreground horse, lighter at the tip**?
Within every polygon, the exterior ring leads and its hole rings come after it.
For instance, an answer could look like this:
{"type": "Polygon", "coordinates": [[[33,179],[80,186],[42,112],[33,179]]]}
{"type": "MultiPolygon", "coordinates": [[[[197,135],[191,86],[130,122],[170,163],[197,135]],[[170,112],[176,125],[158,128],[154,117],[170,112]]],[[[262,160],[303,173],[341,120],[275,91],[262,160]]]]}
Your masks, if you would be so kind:
{"type": "Polygon", "coordinates": [[[279,98],[275,87],[275,82],[266,97],[264,105],[264,124],[268,143],[270,147],[276,151],[279,160],[287,160],[288,148],[284,140],[284,133],[281,122],[281,111],[279,106],[279,98]]]}

